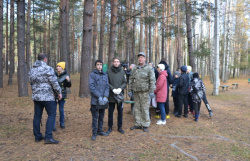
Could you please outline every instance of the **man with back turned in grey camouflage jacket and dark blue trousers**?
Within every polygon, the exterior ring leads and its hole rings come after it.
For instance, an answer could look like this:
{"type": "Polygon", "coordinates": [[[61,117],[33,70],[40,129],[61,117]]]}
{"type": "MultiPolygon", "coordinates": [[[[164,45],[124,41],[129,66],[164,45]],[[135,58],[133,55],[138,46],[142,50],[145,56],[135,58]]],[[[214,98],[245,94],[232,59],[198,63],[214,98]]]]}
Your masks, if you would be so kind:
{"type": "Polygon", "coordinates": [[[52,136],[56,116],[55,94],[61,100],[62,90],[58,84],[54,69],[47,65],[46,54],[38,54],[38,60],[29,72],[29,82],[32,89],[32,100],[34,101],[33,133],[35,142],[45,139],[45,144],[57,144],[59,141],[54,140],[52,136]],[[40,132],[44,107],[48,114],[45,138],[40,132]]]}

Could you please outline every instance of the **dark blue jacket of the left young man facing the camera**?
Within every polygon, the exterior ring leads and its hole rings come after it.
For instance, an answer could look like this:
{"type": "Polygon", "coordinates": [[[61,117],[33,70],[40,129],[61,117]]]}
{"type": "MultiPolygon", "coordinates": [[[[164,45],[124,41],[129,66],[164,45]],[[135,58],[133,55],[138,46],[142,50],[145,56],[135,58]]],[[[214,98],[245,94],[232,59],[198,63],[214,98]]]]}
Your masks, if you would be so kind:
{"type": "Polygon", "coordinates": [[[89,89],[91,92],[91,105],[96,105],[99,97],[108,97],[108,75],[103,71],[99,72],[94,69],[89,75],[89,89]]]}

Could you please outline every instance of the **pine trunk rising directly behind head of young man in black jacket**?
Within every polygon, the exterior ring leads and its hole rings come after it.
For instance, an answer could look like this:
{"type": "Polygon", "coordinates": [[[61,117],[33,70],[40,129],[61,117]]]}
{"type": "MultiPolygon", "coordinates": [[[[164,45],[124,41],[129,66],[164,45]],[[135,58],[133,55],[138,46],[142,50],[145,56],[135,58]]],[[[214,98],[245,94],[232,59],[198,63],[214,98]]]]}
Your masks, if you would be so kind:
{"type": "Polygon", "coordinates": [[[111,20],[110,20],[109,58],[108,58],[109,67],[111,67],[113,62],[113,57],[115,56],[117,5],[118,5],[118,0],[111,0],[111,20]]]}

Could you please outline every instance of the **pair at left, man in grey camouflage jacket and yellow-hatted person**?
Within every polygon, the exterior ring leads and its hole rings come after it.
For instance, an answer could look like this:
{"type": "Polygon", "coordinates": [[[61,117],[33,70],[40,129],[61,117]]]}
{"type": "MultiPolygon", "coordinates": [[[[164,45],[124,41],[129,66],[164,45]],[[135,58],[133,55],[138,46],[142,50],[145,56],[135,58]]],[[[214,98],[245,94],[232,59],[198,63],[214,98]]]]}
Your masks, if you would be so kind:
{"type": "Polygon", "coordinates": [[[67,98],[67,87],[71,87],[71,80],[65,70],[65,62],[59,62],[55,70],[47,65],[46,54],[38,54],[38,60],[29,72],[29,82],[34,101],[33,134],[35,142],[44,140],[45,144],[58,144],[52,131],[56,131],[56,109],[59,105],[60,127],[64,124],[64,104],[67,98]],[[45,137],[40,132],[40,124],[45,108],[48,118],[46,123],[45,137]]]}

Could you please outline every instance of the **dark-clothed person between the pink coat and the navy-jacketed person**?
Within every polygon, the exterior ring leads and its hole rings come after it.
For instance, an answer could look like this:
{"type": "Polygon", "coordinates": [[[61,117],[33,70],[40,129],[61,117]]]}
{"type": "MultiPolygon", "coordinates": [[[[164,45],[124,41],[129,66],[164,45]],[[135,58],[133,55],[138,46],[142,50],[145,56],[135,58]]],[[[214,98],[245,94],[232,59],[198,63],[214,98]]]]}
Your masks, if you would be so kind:
{"type": "Polygon", "coordinates": [[[180,75],[181,73],[179,72],[179,70],[175,71],[174,73],[174,80],[172,82],[172,84],[170,85],[170,87],[172,88],[172,97],[173,97],[173,101],[174,101],[174,112],[173,114],[175,116],[178,115],[178,89],[177,89],[177,85],[179,84],[179,80],[180,80],[180,75]]]}

